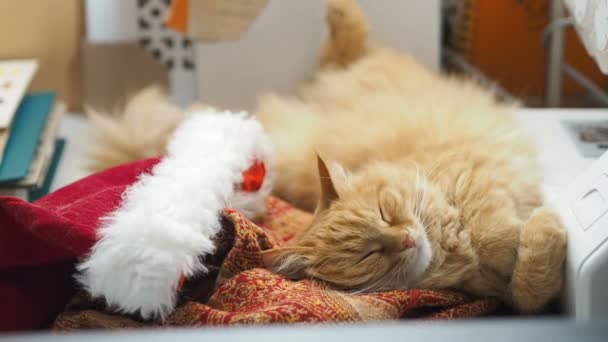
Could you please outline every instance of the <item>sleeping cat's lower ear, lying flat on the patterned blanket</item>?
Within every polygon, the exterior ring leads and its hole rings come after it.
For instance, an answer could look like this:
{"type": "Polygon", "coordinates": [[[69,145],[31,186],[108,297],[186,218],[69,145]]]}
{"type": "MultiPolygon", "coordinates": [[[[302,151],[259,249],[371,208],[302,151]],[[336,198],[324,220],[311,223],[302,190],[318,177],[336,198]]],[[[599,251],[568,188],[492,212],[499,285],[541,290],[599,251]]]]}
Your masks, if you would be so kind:
{"type": "Polygon", "coordinates": [[[306,252],[310,247],[278,247],[262,251],[264,267],[285,275],[289,279],[306,277],[310,259],[306,252]]]}

